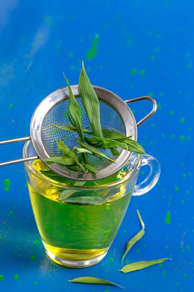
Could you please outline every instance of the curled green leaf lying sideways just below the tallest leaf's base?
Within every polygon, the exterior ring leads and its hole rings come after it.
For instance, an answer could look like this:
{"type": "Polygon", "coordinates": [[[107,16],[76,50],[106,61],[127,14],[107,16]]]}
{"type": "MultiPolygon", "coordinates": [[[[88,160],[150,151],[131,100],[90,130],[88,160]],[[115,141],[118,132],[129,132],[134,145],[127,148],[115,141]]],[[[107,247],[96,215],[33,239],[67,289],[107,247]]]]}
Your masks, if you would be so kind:
{"type": "Polygon", "coordinates": [[[99,137],[84,137],[85,141],[97,148],[109,149],[114,146],[119,146],[125,150],[128,150],[128,146],[125,143],[120,143],[115,140],[99,138],[99,137]]]}

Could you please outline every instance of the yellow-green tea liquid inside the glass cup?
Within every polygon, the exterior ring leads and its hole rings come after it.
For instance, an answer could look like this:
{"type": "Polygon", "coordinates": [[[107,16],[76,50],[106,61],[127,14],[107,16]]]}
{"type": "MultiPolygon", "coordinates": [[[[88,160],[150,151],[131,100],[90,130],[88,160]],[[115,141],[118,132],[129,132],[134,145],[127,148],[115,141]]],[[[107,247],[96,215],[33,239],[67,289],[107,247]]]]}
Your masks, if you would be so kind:
{"type": "MultiPolygon", "coordinates": [[[[45,169],[41,161],[32,166],[45,169]]],[[[118,173],[115,180],[125,176],[118,173]]],[[[103,183],[110,178],[103,179],[103,183]]],[[[93,182],[93,185],[99,181],[93,182]]],[[[110,198],[101,204],[66,203],[59,198],[59,188],[30,176],[28,188],[38,230],[47,251],[68,260],[86,260],[105,254],[128,208],[133,187],[126,194],[125,185],[111,190],[110,198]]],[[[82,190],[76,195],[87,195],[82,190]]],[[[94,190],[95,192],[95,190],[94,190]]],[[[98,191],[99,192],[99,191],[98,191]]],[[[103,196],[109,190],[103,190],[103,196]]],[[[92,192],[90,190],[90,196],[92,192]]],[[[100,194],[101,195],[101,194],[100,194]]]]}

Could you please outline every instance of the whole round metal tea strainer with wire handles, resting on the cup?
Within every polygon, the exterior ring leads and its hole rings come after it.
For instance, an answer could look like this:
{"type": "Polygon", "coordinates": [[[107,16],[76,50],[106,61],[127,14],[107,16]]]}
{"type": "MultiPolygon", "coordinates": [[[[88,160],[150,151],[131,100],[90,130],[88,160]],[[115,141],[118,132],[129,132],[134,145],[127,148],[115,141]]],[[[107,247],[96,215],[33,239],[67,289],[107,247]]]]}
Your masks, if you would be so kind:
{"type": "MultiPolygon", "coordinates": [[[[101,127],[124,136],[132,136],[131,139],[137,140],[137,128],[150,118],[157,110],[156,101],[149,96],[137,97],[131,100],[123,101],[120,97],[104,88],[93,86],[100,103],[100,120],[101,127]],[[135,118],[128,107],[128,104],[139,100],[149,100],[153,104],[153,109],[140,122],[136,124],[135,118]]],[[[71,86],[74,96],[81,106],[82,127],[90,127],[89,120],[83,108],[81,98],[79,97],[78,85],[71,86]]],[[[30,125],[30,137],[17,138],[1,141],[0,145],[15,143],[20,141],[32,141],[32,145],[37,156],[12,160],[0,163],[0,166],[26,162],[40,158],[51,170],[66,178],[81,181],[98,180],[110,176],[121,169],[131,156],[131,152],[117,147],[120,153],[119,157],[113,156],[110,149],[101,150],[115,162],[111,163],[107,159],[99,159],[93,155],[88,155],[91,165],[95,166],[98,173],[94,178],[90,173],[84,175],[80,172],[70,171],[61,164],[47,164],[46,159],[54,156],[61,156],[62,152],[58,149],[56,139],[63,140],[65,145],[72,149],[76,146],[76,140],[79,138],[77,132],[61,130],[51,126],[70,125],[67,110],[69,104],[68,87],[61,88],[50,93],[38,105],[33,113],[30,125]]],[[[78,146],[78,145],[77,145],[78,146]]]]}

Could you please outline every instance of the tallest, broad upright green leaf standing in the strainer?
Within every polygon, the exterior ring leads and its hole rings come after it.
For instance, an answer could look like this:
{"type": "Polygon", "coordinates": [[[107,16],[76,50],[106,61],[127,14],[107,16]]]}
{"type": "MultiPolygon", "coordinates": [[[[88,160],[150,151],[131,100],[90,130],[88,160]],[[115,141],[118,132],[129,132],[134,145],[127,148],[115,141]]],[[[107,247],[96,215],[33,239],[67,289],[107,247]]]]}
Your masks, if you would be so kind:
{"type": "Polygon", "coordinates": [[[86,111],[88,120],[94,131],[94,134],[95,136],[102,138],[102,130],[101,130],[101,125],[100,125],[99,100],[85,72],[83,62],[82,62],[82,69],[80,73],[79,91],[80,91],[83,107],[86,111]]]}

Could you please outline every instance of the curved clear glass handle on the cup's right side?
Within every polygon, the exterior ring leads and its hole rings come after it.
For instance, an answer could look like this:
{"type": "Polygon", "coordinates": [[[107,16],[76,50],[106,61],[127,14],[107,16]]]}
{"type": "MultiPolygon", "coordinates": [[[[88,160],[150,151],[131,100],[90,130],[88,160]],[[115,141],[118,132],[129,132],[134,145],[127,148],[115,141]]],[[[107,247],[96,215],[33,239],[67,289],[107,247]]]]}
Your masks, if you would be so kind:
{"type": "Polygon", "coordinates": [[[161,166],[158,160],[150,155],[142,155],[142,165],[149,165],[150,172],[146,179],[134,187],[133,196],[141,196],[149,192],[158,182],[161,174],[161,166]]]}

